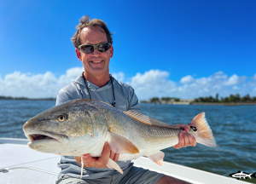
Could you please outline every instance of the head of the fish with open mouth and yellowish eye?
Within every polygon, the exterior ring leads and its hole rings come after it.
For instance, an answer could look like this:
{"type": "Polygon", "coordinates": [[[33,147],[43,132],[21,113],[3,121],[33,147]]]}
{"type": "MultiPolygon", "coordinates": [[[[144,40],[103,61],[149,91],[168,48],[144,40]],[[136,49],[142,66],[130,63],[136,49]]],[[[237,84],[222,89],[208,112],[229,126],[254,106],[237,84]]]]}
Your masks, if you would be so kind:
{"type": "Polygon", "coordinates": [[[99,110],[89,101],[69,101],[29,119],[23,126],[28,146],[39,152],[78,155],[94,138],[93,114],[99,110]],[[73,152],[73,153],[71,153],[73,152]]]}

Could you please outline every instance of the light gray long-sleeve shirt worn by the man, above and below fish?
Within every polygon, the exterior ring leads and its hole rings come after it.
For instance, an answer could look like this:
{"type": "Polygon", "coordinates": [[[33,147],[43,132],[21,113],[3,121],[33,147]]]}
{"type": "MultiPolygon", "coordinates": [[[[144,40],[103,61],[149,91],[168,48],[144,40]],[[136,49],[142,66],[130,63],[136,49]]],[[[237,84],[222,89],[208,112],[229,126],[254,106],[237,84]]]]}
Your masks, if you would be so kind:
{"type": "MultiPolygon", "coordinates": [[[[113,88],[112,83],[109,80],[108,83],[102,88],[96,86],[94,83],[86,81],[88,88],[90,90],[90,95],[84,84],[84,78],[79,76],[73,83],[70,83],[58,93],[56,106],[67,101],[73,101],[76,99],[91,99],[96,101],[103,101],[111,105],[113,103],[113,89],[116,105],[115,107],[123,112],[128,110],[137,110],[140,112],[140,106],[138,103],[137,95],[134,93],[134,89],[126,83],[121,83],[113,78],[113,88]]],[[[125,170],[131,164],[131,161],[121,162],[117,161],[119,167],[125,170]]],[[[74,157],[63,156],[61,157],[61,162],[58,164],[61,168],[59,177],[62,175],[70,175],[72,177],[80,178],[81,167],[76,162],[74,157]]],[[[102,178],[107,175],[113,175],[117,172],[116,170],[110,170],[108,168],[85,168],[83,173],[83,179],[96,179],[102,178]]]]}

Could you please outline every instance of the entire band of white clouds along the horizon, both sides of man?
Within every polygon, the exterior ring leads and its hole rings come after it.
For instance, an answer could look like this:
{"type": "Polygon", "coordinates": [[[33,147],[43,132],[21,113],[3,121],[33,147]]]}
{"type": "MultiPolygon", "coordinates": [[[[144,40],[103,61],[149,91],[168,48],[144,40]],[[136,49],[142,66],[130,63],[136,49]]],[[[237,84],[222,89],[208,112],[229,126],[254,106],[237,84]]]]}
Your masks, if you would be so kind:
{"type": "MultiPolygon", "coordinates": [[[[77,78],[83,72],[83,67],[74,67],[65,74],[56,77],[53,72],[31,74],[13,72],[4,78],[0,75],[0,95],[25,96],[30,98],[56,97],[58,91],[77,78]]],[[[228,96],[239,93],[240,95],[256,95],[256,74],[253,77],[226,75],[224,72],[215,72],[204,78],[184,76],[179,82],[170,79],[170,72],[149,70],[137,73],[125,81],[125,73],[113,73],[119,81],[130,84],[139,100],[148,100],[154,96],[180,97],[183,99],[197,98],[200,96],[228,96]]]]}

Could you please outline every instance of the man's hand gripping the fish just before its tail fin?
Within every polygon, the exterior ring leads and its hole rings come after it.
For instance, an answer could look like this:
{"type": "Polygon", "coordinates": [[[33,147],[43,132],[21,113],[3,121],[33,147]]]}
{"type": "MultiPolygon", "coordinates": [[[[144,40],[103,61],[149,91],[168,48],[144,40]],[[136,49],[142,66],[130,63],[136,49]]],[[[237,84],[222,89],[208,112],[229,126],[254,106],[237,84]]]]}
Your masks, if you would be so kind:
{"type": "Polygon", "coordinates": [[[194,135],[189,135],[189,125],[186,124],[175,124],[177,127],[184,129],[183,131],[181,131],[178,135],[178,143],[177,145],[173,146],[175,149],[179,149],[181,147],[188,147],[188,146],[192,146],[195,147],[196,145],[196,140],[194,135]]]}

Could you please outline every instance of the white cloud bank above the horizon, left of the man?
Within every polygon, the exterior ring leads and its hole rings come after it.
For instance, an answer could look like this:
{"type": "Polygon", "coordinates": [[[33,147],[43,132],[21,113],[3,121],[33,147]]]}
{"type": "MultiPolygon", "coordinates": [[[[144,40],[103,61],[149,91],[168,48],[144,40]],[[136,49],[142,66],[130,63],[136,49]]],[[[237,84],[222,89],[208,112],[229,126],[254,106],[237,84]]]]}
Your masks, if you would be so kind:
{"type": "Polygon", "coordinates": [[[25,96],[30,98],[56,97],[58,91],[81,75],[82,67],[67,70],[66,74],[56,78],[52,72],[44,74],[13,72],[1,78],[0,95],[25,96]]]}

